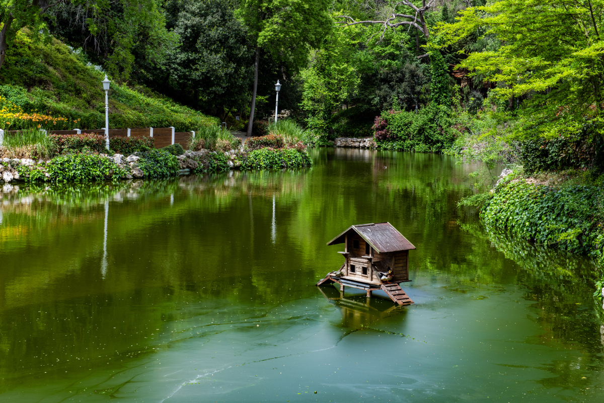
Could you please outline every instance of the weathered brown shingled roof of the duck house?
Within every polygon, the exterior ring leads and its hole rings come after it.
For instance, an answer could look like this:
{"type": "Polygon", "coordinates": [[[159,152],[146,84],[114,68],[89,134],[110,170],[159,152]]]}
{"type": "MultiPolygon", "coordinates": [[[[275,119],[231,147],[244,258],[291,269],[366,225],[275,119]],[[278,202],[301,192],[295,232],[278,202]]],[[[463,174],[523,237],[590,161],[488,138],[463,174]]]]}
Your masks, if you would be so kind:
{"type": "Polygon", "coordinates": [[[344,232],[329,241],[327,245],[343,244],[345,235],[349,231],[355,231],[361,238],[367,241],[378,253],[397,252],[398,250],[416,249],[407,238],[396,230],[390,223],[370,223],[353,225],[344,232]]]}

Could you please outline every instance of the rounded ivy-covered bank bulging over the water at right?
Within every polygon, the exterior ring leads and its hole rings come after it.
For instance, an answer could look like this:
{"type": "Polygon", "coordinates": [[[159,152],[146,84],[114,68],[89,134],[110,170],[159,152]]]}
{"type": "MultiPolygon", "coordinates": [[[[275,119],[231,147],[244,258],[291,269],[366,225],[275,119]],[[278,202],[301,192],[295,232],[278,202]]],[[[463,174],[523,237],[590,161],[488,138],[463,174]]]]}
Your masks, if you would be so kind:
{"type": "Polygon", "coordinates": [[[500,180],[480,217],[489,230],[506,230],[539,245],[582,253],[604,264],[604,193],[599,183],[563,176],[500,180]]]}

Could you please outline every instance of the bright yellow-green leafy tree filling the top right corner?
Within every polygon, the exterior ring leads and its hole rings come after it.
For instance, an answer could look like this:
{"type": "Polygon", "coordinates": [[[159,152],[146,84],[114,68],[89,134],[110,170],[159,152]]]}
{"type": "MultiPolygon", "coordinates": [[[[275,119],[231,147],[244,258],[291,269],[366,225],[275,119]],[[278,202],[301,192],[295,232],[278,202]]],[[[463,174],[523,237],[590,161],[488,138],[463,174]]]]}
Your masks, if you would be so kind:
{"type": "Polygon", "coordinates": [[[519,134],[578,133],[586,120],[604,138],[603,0],[501,0],[466,8],[444,25],[443,46],[476,32],[493,36],[497,48],[471,52],[458,68],[498,82],[492,93],[522,97],[519,134]]]}

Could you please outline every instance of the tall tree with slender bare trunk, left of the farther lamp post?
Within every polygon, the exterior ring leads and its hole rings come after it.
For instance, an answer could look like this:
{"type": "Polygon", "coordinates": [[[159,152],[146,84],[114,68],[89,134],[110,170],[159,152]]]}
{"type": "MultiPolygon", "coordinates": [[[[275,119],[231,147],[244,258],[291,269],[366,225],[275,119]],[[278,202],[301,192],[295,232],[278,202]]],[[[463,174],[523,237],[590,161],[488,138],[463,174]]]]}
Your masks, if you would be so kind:
{"type": "Polygon", "coordinates": [[[327,0],[242,0],[240,14],[254,37],[254,85],[248,135],[252,132],[260,52],[297,71],[306,65],[310,49],[320,48],[332,27],[327,0]]]}

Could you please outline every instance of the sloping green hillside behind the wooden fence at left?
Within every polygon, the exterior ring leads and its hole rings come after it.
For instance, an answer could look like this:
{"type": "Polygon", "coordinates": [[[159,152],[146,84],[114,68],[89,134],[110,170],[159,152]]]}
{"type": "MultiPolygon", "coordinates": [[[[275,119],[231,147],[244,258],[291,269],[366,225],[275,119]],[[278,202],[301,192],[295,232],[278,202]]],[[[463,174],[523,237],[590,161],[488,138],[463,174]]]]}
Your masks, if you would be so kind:
{"type": "MultiPolygon", "coordinates": [[[[64,116],[80,129],[104,127],[100,66],[86,63],[83,52],[53,37],[43,42],[34,42],[27,30],[19,31],[0,69],[2,102],[25,113],[64,116]]],[[[109,113],[111,129],[174,126],[184,132],[218,122],[146,87],[128,84],[111,84],[109,113]]],[[[17,125],[13,122],[10,127],[17,125]]]]}

